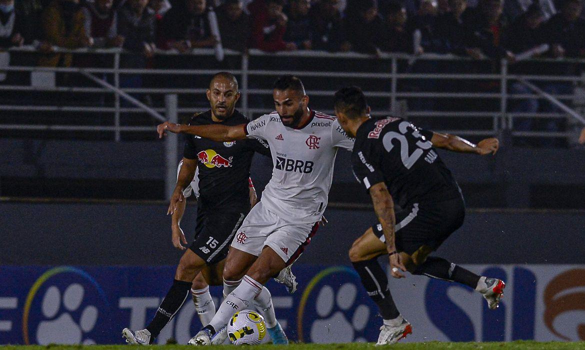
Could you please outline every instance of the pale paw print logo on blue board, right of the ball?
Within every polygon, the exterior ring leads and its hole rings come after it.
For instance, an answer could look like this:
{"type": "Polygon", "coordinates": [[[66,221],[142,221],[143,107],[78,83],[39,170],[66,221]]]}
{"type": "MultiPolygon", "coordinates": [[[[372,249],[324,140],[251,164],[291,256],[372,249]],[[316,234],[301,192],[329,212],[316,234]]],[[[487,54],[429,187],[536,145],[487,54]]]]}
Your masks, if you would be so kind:
{"type": "Polygon", "coordinates": [[[343,283],[337,291],[328,284],[316,298],[316,320],[311,325],[311,341],[315,343],[366,342],[363,331],[370,320],[370,308],[356,304],[355,283],[343,283]]]}

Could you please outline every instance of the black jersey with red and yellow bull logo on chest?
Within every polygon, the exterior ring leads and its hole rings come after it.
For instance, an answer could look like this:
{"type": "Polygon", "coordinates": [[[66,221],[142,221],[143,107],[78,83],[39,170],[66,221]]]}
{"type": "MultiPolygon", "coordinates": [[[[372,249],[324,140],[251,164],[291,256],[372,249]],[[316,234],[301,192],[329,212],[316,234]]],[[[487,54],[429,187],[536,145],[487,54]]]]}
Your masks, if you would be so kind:
{"type": "MultiPolygon", "coordinates": [[[[239,125],[249,122],[238,111],[222,122],[222,125],[239,125]]],[[[211,111],[197,114],[189,125],[215,124],[211,111]]],[[[256,139],[218,142],[188,135],[184,157],[198,159],[199,200],[202,210],[247,212],[250,209],[250,165],[254,152],[270,156],[267,143],[256,139]]]]}

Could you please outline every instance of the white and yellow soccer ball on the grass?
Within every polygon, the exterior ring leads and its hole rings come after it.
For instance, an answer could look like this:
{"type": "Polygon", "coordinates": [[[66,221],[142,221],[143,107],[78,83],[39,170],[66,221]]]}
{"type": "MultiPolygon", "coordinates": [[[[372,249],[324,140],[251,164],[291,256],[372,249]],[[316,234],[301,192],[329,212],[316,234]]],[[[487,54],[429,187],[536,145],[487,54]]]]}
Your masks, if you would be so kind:
{"type": "Polygon", "coordinates": [[[228,337],[233,345],[256,345],[266,337],[264,317],[252,310],[233,314],[228,323],[228,337]]]}

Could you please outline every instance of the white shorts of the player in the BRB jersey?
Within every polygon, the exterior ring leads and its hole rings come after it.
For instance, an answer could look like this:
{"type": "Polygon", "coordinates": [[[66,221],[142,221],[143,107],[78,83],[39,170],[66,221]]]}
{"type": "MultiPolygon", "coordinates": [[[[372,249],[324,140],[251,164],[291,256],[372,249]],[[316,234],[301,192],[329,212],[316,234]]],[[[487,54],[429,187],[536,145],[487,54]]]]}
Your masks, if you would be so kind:
{"type": "Polygon", "coordinates": [[[238,234],[233,238],[232,247],[259,256],[264,246],[269,246],[288,266],[311,243],[311,237],[315,235],[317,228],[319,222],[292,224],[284,221],[266,210],[260,201],[244,219],[238,234]]]}

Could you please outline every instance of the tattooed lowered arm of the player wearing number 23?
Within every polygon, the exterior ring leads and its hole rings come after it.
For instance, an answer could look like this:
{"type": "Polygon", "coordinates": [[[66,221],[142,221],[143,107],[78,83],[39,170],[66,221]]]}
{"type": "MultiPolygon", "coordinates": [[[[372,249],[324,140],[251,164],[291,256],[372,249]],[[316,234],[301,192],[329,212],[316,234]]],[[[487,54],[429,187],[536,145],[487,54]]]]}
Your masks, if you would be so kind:
{"type": "Polygon", "coordinates": [[[392,276],[395,278],[404,277],[399,270],[405,272],[406,267],[402,264],[400,254],[396,251],[394,239],[395,217],[392,196],[388,193],[386,184],[380,182],[370,187],[370,197],[374,204],[374,211],[376,211],[378,221],[382,225],[384,238],[386,238],[386,250],[388,252],[388,259],[390,260],[390,267],[392,268],[392,276]]]}

